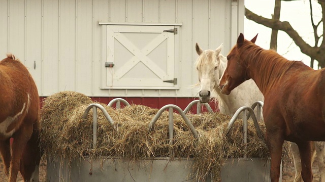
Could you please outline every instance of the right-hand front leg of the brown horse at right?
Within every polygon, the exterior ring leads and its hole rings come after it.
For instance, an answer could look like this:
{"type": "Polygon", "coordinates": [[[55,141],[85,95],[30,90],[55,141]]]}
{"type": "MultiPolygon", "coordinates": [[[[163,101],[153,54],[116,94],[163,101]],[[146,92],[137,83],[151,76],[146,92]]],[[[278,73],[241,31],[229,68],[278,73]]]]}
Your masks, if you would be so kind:
{"type": "Polygon", "coordinates": [[[311,142],[302,141],[297,143],[301,159],[301,176],[305,182],[311,182],[313,175],[311,172],[311,142]]]}

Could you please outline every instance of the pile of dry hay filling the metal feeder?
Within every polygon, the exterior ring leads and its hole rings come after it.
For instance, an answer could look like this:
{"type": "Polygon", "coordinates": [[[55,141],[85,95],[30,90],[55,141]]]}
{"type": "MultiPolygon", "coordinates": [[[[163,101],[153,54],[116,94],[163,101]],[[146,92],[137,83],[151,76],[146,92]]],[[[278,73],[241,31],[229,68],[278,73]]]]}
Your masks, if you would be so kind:
{"type": "MultiPolygon", "coordinates": [[[[186,114],[197,129],[196,139],[185,121],[174,113],[174,144],[170,145],[168,111],[163,112],[148,132],[149,122],[158,112],[147,106],[131,105],[114,110],[101,104],[114,120],[114,127],[98,111],[98,140],[92,146],[92,110],[82,119],[85,108],[91,100],[84,95],[62,92],[48,97],[42,108],[41,142],[50,157],[72,161],[84,156],[114,156],[130,160],[152,157],[192,158],[192,173],[201,181],[212,175],[213,181],[220,181],[220,170],[226,158],[243,157],[244,144],[242,121],[236,121],[225,136],[223,131],[230,121],[229,116],[220,113],[186,114]],[[71,97],[71,98],[70,98],[71,97]]],[[[265,126],[261,124],[265,133],[265,126]]],[[[269,150],[263,139],[259,139],[252,122],[248,122],[247,157],[268,158],[269,150]]],[[[288,159],[288,144],[284,145],[283,157],[288,159]]]]}

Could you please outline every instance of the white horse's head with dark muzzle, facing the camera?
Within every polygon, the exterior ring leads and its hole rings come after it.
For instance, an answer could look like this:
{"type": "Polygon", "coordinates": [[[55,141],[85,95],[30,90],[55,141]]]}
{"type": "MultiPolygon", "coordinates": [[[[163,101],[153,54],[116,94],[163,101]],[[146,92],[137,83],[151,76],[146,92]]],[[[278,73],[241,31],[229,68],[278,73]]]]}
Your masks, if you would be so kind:
{"type": "Polygon", "coordinates": [[[220,54],[222,44],[216,50],[203,51],[196,43],[196,51],[199,55],[196,67],[200,81],[200,102],[210,101],[211,92],[217,88],[219,79],[225,68],[226,58],[220,54]]]}

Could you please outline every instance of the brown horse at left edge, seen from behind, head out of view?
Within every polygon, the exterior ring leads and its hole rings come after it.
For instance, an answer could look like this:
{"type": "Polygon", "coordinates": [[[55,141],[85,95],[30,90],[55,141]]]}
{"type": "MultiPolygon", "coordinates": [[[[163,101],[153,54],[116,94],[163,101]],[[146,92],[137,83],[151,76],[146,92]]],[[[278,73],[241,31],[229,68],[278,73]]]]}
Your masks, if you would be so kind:
{"type": "Polygon", "coordinates": [[[38,181],[39,95],[26,67],[8,54],[0,62],[0,152],[9,181],[38,181]],[[10,144],[10,138],[13,138],[10,144]]]}

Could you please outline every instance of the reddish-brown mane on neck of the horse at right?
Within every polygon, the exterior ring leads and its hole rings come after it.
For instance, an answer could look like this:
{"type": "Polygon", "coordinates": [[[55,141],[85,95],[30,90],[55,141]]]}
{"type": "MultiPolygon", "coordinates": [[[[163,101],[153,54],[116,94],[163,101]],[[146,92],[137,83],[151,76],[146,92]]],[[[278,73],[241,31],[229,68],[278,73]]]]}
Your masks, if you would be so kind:
{"type": "Polygon", "coordinates": [[[263,85],[259,85],[260,89],[269,89],[268,87],[271,87],[276,80],[280,79],[293,66],[308,67],[301,61],[289,61],[277,52],[265,50],[248,40],[243,43],[240,49],[243,50],[240,52],[240,57],[245,58],[247,68],[254,62],[255,79],[259,79],[261,80],[259,82],[263,83],[263,85]]]}

